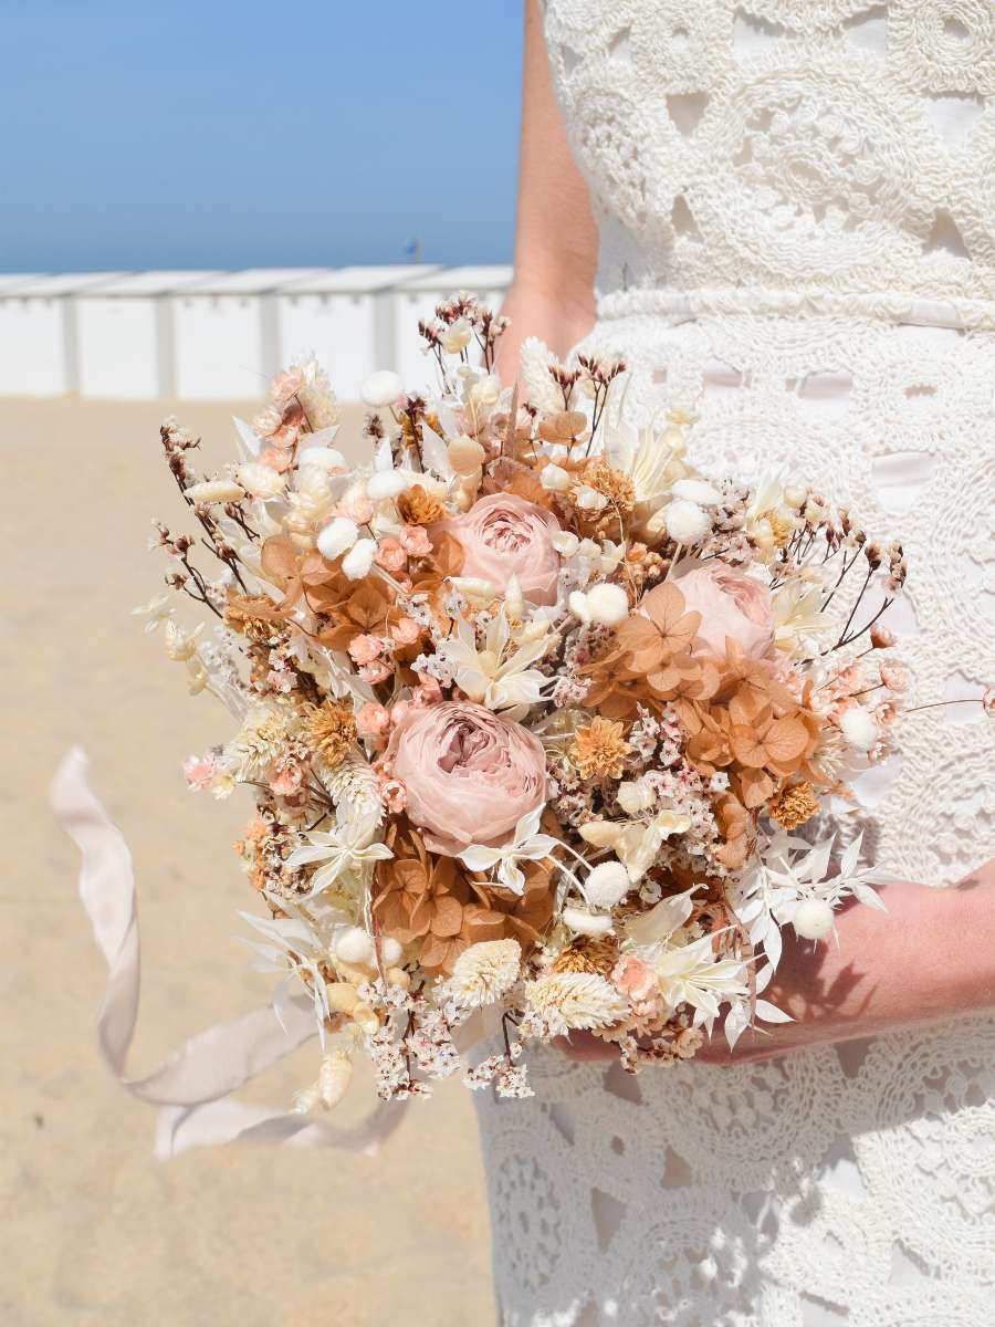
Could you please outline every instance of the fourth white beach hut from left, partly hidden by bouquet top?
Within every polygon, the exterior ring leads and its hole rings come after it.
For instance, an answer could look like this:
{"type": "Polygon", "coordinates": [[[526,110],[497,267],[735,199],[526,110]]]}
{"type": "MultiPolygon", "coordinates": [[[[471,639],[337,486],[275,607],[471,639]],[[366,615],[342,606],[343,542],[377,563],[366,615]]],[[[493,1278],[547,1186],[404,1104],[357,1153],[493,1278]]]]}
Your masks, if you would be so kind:
{"type": "Polygon", "coordinates": [[[289,283],[279,293],[281,362],[313,350],[342,401],[358,401],[370,373],[394,368],[394,287],[432,271],[427,263],[344,267],[289,283]]]}

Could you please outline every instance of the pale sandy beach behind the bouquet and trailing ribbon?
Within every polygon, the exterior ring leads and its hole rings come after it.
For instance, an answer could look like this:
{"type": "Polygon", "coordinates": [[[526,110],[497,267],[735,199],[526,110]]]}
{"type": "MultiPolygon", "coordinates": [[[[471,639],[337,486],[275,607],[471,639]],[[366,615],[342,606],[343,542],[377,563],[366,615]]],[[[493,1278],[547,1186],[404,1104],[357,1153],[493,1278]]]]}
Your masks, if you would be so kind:
{"type": "MultiPolygon", "coordinates": [[[[77,855],[48,808],[68,747],[135,861],[143,994],[130,1071],[263,1003],[236,909],[231,843],[247,802],[192,798],[180,762],[227,734],[210,697],[129,610],[158,589],[153,516],[179,520],[158,425],[175,411],[231,455],[252,405],[0,401],[5,499],[0,1319],[12,1327],[431,1327],[488,1323],[487,1208],[470,1095],[415,1105],[374,1158],[232,1147],[153,1156],[154,1112],[98,1056],[105,966],[76,894],[77,855]]],[[[354,415],[354,411],[353,411],[354,415]]],[[[179,524],[178,524],[178,528],[179,524]]],[[[191,612],[190,624],[195,621],[191,612]]],[[[312,1043],[253,1085],[284,1107],[312,1043]]],[[[364,1078],[344,1107],[358,1119],[364,1078]]]]}

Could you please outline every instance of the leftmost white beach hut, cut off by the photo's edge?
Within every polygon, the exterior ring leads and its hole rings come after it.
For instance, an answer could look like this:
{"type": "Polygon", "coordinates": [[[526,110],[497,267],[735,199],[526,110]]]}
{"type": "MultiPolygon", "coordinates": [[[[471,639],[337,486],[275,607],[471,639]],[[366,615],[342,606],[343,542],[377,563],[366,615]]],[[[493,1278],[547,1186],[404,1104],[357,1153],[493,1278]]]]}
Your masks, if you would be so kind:
{"type": "Polygon", "coordinates": [[[0,395],[58,397],[78,387],[73,296],[122,272],[65,272],[0,288],[0,395]]]}

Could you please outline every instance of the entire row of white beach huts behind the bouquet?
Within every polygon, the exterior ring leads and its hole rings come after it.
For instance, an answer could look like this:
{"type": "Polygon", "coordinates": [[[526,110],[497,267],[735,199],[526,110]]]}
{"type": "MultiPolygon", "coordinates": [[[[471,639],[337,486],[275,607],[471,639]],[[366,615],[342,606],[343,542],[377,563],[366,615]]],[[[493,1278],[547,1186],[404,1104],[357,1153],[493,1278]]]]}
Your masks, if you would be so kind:
{"type": "Polygon", "coordinates": [[[454,291],[500,303],[509,267],[0,275],[0,395],[263,395],[313,349],[342,399],[374,369],[426,378],[418,320],[454,291]]]}

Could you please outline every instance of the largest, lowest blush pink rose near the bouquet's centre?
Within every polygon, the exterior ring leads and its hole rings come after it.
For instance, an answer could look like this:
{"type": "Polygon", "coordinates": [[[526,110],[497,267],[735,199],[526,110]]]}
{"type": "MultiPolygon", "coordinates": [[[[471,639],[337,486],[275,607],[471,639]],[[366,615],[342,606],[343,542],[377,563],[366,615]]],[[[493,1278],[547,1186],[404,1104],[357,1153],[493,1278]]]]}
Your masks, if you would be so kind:
{"type": "Polygon", "coordinates": [[[426,847],[446,857],[471,843],[501,847],[545,802],[543,743],[483,705],[411,707],[390,735],[385,764],[403,783],[426,847]]]}

